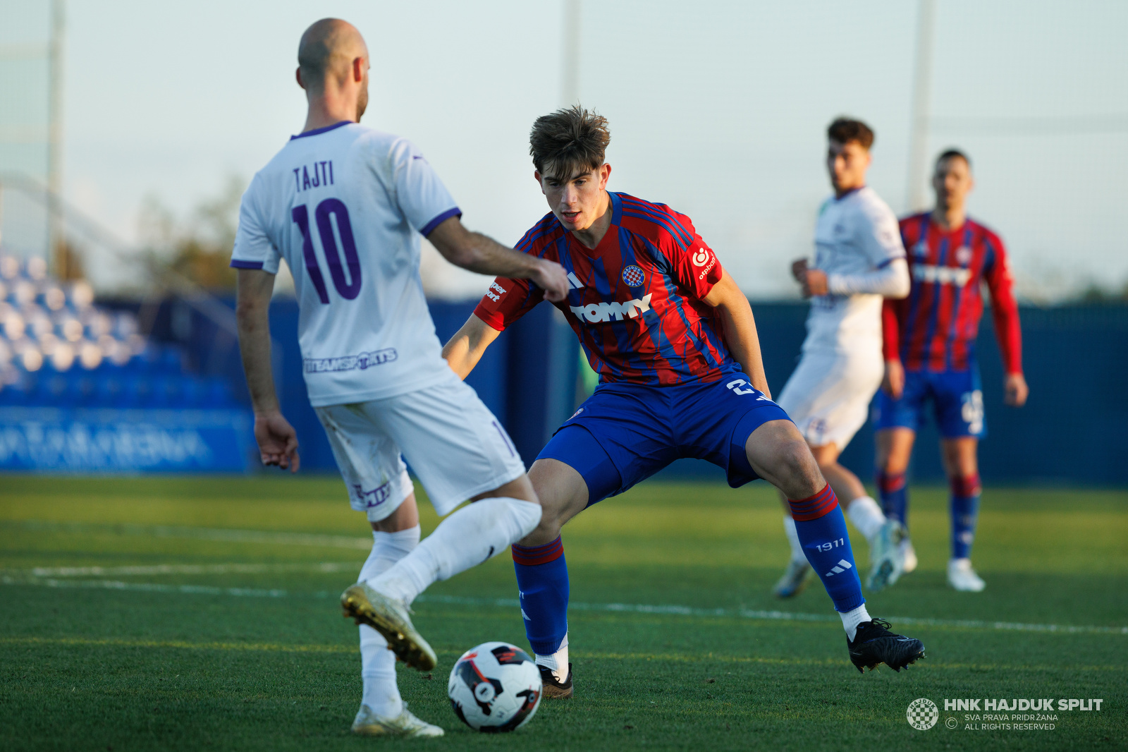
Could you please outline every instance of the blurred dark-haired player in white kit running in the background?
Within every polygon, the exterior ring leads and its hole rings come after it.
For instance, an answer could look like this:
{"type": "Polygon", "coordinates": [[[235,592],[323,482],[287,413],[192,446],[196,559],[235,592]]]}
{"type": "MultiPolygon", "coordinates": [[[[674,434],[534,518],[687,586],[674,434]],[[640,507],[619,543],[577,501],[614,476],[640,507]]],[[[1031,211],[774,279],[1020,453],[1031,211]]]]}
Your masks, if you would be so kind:
{"type": "MultiPolygon", "coordinates": [[[[870,542],[873,569],[866,584],[876,591],[900,576],[899,525],[885,519],[857,475],[838,463],[838,455],[865,423],[884,374],[882,299],[907,296],[910,280],[897,217],[865,184],[873,131],[861,121],[839,117],[827,129],[827,140],[835,195],[819,211],[814,264],[801,260],[792,265],[803,296],[811,298],[811,311],[802,358],[778,404],[811,446],[846,516],[870,542]]],[[[775,593],[791,597],[803,588],[811,567],[786,502],[784,510],[791,561],[775,593]]]]}

